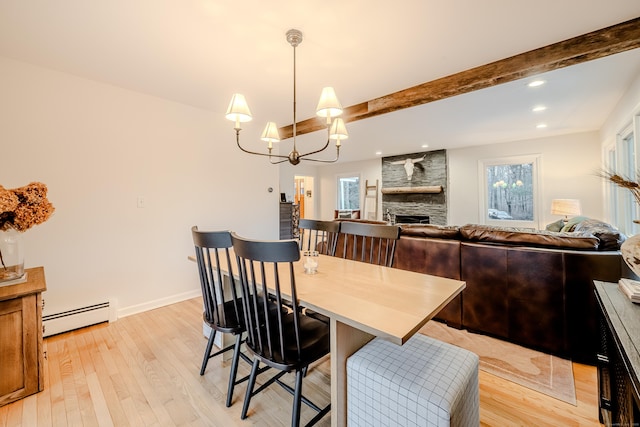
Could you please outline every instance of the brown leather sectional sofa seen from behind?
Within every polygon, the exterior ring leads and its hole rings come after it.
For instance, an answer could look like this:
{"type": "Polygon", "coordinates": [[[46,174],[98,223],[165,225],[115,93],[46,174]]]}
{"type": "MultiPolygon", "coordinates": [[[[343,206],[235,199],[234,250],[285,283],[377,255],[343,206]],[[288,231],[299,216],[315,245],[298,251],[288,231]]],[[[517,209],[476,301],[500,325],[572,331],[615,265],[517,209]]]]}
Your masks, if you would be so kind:
{"type": "Polygon", "coordinates": [[[450,326],[595,364],[593,280],[635,276],[618,250],[624,235],[594,223],[571,233],[402,225],[394,267],[466,281],[437,316],[450,326]]]}

